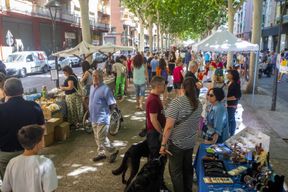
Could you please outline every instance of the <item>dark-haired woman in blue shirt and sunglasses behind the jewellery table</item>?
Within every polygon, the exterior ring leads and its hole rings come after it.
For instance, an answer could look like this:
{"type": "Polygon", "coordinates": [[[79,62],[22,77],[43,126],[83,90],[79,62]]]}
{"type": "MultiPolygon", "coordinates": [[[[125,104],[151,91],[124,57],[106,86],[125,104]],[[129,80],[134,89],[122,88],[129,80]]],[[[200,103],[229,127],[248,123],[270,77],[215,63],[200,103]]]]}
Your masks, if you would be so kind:
{"type": "Polygon", "coordinates": [[[207,116],[207,125],[214,127],[212,141],[205,141],[205,145],[224,143],[229,138],[228,115],[221,100],[225,97],[222,88],[211,88],[207,94],[211,103],[207,116]]]}

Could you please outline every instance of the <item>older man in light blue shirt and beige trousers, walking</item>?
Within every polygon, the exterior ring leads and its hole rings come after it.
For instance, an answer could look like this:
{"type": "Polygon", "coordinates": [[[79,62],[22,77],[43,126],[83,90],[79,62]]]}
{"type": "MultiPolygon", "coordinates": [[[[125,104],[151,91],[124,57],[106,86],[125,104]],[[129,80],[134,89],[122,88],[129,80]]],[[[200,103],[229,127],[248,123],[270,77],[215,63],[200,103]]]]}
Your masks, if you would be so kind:
{"type": "Polygon", "coordinates": [[[112,163],[118,153],[117,150],[107,138],[109,131],[111,111],[116,104],[112,90],[103,82],[103,73],[100,70],[93,71],[93,86],[90,88],[89,97],[90,122],[92,122],[95,141],[98,145],[98,155],[93,157],[93,161],[99,161],[106,158],[105,150],[111,154],[110,163],[112,163]]]}

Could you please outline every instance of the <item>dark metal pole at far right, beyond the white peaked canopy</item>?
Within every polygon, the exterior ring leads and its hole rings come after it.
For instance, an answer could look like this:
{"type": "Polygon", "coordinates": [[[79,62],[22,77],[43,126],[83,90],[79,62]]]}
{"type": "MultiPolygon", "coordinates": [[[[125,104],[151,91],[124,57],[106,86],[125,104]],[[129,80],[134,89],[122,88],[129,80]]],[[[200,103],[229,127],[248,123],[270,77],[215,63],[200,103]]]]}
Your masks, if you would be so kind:
{"type": "MultiPolygon", "coordinates": [[[[283,22],[283,15],[286,10],[286,3],[287,0],[285,0],[284,8],[281,11],[281,16],[280,16],[280,24],[279,24],[279,31],[278,31],[278,52],[280,53],[280,42],[281,42],[281,31],[282,31],[282,22],[283,22]]],[[[280,1],[280,9],[281,9],[282,1],[280,1]]],[[[275,51],[276,54],[276,51],[275,51]]],[[[275,63],[276,65],[276,63],[275,63]]],[[[271,111],[276,110],[276,99],[277,99],[277,83],[278,83],[278,68],[275,66],[275,71],[274,71],[274,83],[273,83],[273,95],[272,95],[272,104],[271,104],[271,111]]]]}

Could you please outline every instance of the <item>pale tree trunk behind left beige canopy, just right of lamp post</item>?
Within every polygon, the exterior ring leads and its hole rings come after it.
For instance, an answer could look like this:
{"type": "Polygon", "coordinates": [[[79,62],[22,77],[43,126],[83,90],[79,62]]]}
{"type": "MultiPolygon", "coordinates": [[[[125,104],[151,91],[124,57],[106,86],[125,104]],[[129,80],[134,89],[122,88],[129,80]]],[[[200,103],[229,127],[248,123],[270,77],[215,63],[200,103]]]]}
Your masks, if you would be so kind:
{"type": "MultiPolygon", "coordinates": [[[[89,0],[79,0],[81,12],[81,30],[83,41],[92,44],[90,23],[89,23],[89,0]]],[[[86,61],[92,63],[93,56],[86,58],[86,61]]]]}

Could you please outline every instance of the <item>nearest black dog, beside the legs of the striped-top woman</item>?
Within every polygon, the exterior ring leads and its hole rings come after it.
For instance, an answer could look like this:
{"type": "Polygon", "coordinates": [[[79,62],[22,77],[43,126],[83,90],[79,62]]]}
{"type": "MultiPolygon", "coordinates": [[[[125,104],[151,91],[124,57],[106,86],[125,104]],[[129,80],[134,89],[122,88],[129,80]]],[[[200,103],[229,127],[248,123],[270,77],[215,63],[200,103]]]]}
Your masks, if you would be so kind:
{"type": "Polygon", "coordinates": [[[163,172],[167,159],[167,156],[162,156],[157,151],[151,152],[147,163],[125,192],[159,192],[163,185],[163,172]]]}

